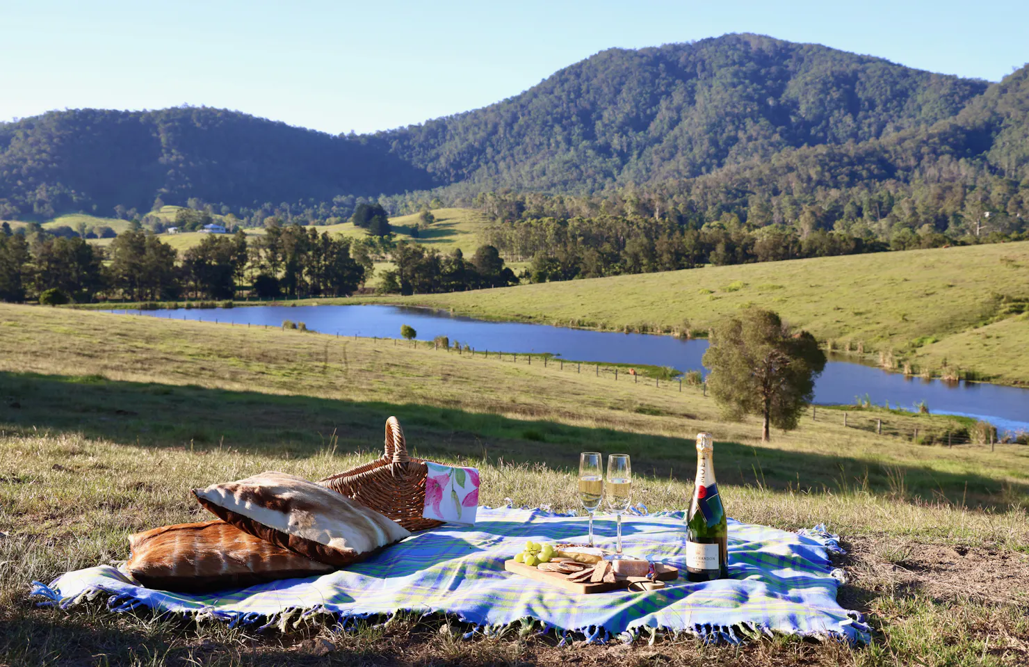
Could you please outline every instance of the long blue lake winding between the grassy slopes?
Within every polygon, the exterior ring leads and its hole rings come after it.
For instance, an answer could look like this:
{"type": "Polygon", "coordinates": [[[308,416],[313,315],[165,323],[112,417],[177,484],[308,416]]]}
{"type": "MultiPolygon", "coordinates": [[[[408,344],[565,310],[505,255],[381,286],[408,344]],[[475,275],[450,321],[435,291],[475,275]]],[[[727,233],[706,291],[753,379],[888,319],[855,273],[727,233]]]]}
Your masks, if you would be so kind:
{"type": "MultiPolygon", "coordinates": [[[[549,352],[565,359],[674,366],[704,372],[701,357],[707,341],[681,341],[670,336],[617,334],[545,324],[487,322],[446,312],[400,306],[248,306],[235,309],[110,311],[151,317],[237,324],[279,326],[283,320],[304,322],[322,334],[400,338],[410,324],[418,340],[447,336],[475,350],[549,352]]],[[[883,406],[911,410],[924,400],[934,413],[964,415],[989,421],[1001,431],[1029,431],[1029,389],[979,382],[946,383],[906,378],[897,373],[831,358],[815,384],[815,402],[851,405],[867,394],[883,406]]]]}

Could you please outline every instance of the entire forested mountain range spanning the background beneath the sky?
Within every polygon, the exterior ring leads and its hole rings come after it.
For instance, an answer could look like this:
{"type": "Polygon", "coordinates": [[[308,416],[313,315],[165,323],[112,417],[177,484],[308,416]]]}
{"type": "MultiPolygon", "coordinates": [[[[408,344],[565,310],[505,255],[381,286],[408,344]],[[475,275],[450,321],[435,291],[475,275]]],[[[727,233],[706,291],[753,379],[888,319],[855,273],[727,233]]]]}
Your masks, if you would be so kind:
{"type": "Polygon", "coordinates": [[[879,219],[903,199],[931,208],[958,197],[956,211],[972,190],[1021,215],[1027,80],[1027,68],[991,85],[725,35],[605,50],[497,104],[374,135],[209,108],[55,111],[0,124],[0,218],[145,212],[161,198],[316,219],[349,215],[360,198],[396,213],[435,198],[489,208],[513,197],[494,211],[509,219],[540,192],[553,197],[537,216],[603,213],[598,199],[613,198],[622,213],[693,211],[701,223],[732,213],[793,224],[805,207],[838,209],[816,220],[831,229],[848,205],[879,219]],[[568,210],[570,195],[582,210],[568,210]]]}

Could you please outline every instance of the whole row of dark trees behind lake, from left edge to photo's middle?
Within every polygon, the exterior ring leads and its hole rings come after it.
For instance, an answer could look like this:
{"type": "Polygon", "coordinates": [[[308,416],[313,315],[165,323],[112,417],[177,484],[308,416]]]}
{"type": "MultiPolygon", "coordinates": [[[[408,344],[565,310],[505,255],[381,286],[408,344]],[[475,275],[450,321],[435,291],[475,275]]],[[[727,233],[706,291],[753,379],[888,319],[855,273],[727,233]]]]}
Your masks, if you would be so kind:
{"type": "Polygon", "coordinates": [[[349,239],[275,219],[262,235],[211,234],[182,253],[140,229],[122,232],[102,248],[38,225],[12,232],[4,224],[0,301],[38,301],[44,294],[48,303],[229,300],[241,292],[259,299],[348,296],[371,277],[376,260],[387,259],[396,268],[383,276],[383,292],[458,291],[519,282],[493,247],[481,247],[469,261],[460,250],[445,256],[414,243],[396,243],[392,234],[349,239]]]}

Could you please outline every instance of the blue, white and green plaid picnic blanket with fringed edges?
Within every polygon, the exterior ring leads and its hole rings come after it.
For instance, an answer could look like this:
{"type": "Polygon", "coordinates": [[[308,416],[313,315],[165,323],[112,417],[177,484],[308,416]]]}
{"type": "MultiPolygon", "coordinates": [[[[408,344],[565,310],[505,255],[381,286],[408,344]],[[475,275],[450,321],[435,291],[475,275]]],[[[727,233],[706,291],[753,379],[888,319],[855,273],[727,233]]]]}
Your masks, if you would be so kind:
{"type": "MultiPolygon", "coordinates": [[[[613,543],[614,521],[595,521],[600,546],[613,543]]],[[[682,513],[631,517],[623,522],[625,552],[646,555],[685,572],[682,513]]],[[[577,595],[504,571],[503,562],[538,542],[584,542],[587,518],[544,510],[478,508],[474,526],[417,533],[346,570],[284,580],[242,590],[186,595],[143,588],[117,568],[101,565],[59,576],[34,593],[43,604],[67,607],[109,593],[118,611],[141,606],[237,623],[276,624],[283,615],[331,612],[346,625],[399,610],[445,612],[496,633],[525,619],[543,628],[586,634],[590,641],[631,640],[641,631],[686,632],[741,642],[755,633],[867,641],[868,626],[837,603],[842,573],[828,553],[836,536],[818,527],[800,534],[729,522],[730,578],[669,582],[649,592],[577,595]]]]}

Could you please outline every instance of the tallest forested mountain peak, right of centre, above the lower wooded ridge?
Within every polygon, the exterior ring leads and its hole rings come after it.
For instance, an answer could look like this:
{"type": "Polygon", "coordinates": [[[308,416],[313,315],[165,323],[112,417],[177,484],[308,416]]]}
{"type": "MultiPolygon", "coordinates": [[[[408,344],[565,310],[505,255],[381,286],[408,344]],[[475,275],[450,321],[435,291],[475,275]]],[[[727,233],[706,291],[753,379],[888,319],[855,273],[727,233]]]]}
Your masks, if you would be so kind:
{"type": "Polygon", "coordinates": [[[817,44],[726,35],[612,48],[498,104],[377,138],[445,182],[589,191],[930,125],[986,87],[817,44]]]}

